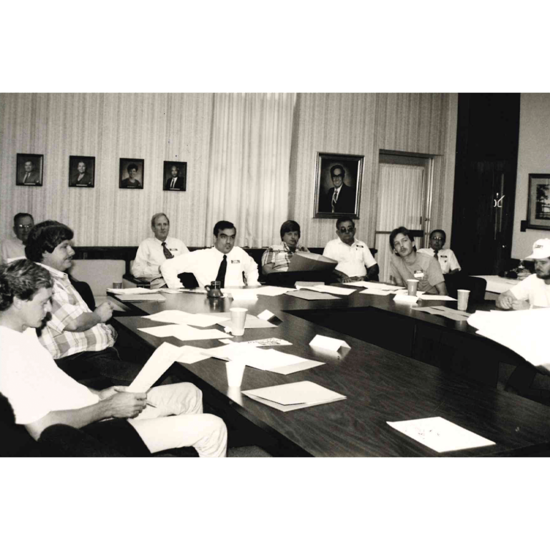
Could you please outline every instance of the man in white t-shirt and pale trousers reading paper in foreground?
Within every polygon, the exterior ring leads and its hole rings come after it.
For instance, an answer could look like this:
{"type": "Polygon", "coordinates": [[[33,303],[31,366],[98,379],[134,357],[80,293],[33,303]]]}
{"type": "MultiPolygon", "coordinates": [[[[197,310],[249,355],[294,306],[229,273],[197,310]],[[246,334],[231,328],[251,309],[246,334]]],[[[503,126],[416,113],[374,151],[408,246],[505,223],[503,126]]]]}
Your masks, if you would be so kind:
{"type": "Polygon", "coordinates": [[[58,368],[36,337],[51,310],[52,287],[50,273],[30,260],[0,266],[0,392],[17,424],[37,440],[54,424],[81,428],[122,418],[151,453],[193,446],[202,457],[226,456],[226,425],[202,414],[202,394],[193,384],[158,386],[147,394],[127,392],[125,386],[98,391],[58,368]]]}

